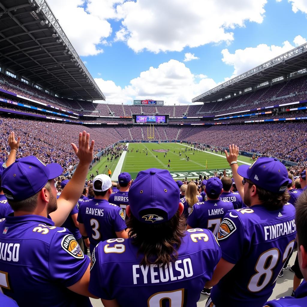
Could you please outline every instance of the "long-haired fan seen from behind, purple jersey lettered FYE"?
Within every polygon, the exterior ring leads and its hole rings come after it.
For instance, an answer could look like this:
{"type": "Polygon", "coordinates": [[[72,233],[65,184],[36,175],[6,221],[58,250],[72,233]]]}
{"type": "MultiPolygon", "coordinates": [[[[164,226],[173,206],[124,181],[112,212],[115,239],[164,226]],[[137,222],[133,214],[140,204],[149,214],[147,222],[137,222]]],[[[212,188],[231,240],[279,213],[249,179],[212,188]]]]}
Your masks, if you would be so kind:
{"type": "Polygon", "coordinates": [[[138,173],[129,190],[128,239],[100,242],[89,291],[106,307],[196,307],[220,259],[211,231],[185,231],[177,183],[167,170],[138,173]]]}

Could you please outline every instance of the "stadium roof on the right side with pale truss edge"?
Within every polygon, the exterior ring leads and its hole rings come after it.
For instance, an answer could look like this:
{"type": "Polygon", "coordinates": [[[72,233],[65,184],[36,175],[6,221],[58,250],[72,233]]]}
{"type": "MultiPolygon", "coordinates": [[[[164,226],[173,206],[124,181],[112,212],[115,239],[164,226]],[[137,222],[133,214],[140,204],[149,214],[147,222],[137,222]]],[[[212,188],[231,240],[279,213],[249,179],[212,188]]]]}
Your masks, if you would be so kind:
{"type": "Polygon", "coordinates": [[[249,87],[266,81],[270,82],[278,77],[287,76],[292,72],[306,68],[306,59],[307,44],[304,44],[206,91],[193,98],[192,102],[215,101],[239,91],[243,92],[249,87]]]}

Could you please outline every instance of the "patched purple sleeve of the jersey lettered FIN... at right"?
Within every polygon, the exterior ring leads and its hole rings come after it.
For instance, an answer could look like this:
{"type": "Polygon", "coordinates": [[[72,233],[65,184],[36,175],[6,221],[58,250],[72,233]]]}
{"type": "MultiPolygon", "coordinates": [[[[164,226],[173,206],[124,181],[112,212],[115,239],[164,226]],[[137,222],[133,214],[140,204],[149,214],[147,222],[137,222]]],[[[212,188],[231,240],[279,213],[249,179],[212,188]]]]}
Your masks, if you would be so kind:
{"type": "Polygon", "coordinates": [[[244,254],[248,240],[242,221],[236,210],[228,211],[217,232],[217,240],[222,250],[222,258],[230,263],[237,263],[244,254]]]}

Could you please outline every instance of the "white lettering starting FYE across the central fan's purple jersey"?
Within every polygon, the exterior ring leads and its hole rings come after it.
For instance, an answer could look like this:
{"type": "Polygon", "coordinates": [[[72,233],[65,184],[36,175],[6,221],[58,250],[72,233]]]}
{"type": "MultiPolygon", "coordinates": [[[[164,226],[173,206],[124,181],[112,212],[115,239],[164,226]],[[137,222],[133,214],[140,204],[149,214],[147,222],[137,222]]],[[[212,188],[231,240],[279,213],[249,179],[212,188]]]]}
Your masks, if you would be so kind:
{"type": "Polygon", "coordinates": [[[170,262],[165,266],[157,264],[151,264],[150,266],[134,264],[132,266],[132,272],[134,285],[137,285],[138,283],[147,284],[148,279],[151,283],[158,283],[193,276],[193,268],[190,258],[177,260],[175,263],[170,262]],[[174,264],[175,266],[173,266],[174,264]],[[174,272],[176,271],[180,273],[179,276],[174,276],[174,272]]]}

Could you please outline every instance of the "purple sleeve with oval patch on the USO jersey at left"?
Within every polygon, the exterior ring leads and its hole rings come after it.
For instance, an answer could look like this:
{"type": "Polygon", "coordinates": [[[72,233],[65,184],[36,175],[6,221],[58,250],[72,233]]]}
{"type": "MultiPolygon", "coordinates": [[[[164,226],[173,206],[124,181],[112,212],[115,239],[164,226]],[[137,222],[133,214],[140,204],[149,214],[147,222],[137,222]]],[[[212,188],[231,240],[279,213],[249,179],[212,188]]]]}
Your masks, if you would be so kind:
{"type": "Polygon", "coordinates": [[[51,280],[65,287],[72,286],[84,275],[89,263],[75,237],[65,228],[59,228],[49,248],[51,280]]]}

